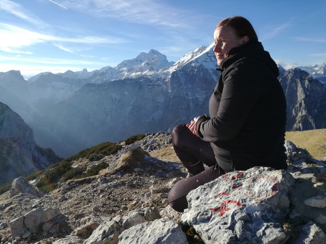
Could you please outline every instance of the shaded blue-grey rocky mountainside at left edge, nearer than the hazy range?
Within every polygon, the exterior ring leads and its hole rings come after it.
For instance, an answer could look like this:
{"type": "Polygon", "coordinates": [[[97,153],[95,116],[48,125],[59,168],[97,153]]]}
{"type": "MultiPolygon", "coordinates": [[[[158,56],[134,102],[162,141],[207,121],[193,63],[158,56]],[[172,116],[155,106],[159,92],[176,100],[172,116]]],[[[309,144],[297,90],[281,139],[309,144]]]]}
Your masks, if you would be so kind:
{"type": "Polygon", "coordinates": [[[36,145],[33,130],[0,102],[0,184],[37,172],[59,160],[50,148],[36,145]]]}

